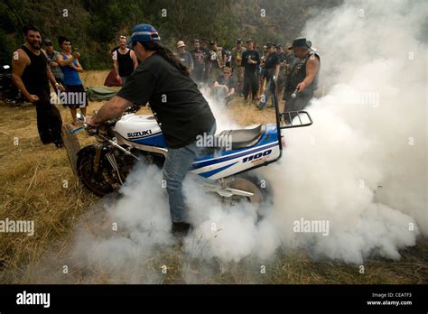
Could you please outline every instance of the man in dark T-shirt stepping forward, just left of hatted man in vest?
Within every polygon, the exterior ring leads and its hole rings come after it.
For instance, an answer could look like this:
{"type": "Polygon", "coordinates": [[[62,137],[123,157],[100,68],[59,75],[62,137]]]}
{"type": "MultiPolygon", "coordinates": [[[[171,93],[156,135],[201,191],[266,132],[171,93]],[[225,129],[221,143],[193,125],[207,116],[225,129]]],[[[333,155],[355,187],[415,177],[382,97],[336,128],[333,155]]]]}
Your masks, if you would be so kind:
{"type": "Polygon", "coordinates": [[[266,88],[265,88],[265,95],[263,95],[262,99],[260,100],[260,105],[259,105],[260,109],[265,108],[267,101],[269,100],[269,97],[271,97],[274,92],[274,83],[272,79],[274,78],[274,76],[278,77],[279,69],[281,65],[281,60],[279,59],[278,54],[275,51],[274,42],[267,42],[266,50],[267,50],[267,56],[265,61],[262,64],[262,67],[265,69],[264,76],[266,80],[266,88]]]}

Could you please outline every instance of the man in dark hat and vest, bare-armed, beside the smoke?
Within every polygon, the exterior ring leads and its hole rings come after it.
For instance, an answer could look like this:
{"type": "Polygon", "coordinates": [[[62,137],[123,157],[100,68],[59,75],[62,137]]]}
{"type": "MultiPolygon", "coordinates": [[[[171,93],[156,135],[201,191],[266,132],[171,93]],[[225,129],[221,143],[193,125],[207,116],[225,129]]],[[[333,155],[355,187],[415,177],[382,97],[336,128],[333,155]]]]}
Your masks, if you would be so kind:
{"type": "MultiPolygon", "coordinates": [[[[312,43],[299,37],[293,41],[290,50],[298,58],[287,77],[284,88],[284,112],[299,111],[307,106],[318,88],[320,55],[311,50],[312,43]]],[[[284,115],[285,123],[290,124],[296,114],[284,115]]]]}

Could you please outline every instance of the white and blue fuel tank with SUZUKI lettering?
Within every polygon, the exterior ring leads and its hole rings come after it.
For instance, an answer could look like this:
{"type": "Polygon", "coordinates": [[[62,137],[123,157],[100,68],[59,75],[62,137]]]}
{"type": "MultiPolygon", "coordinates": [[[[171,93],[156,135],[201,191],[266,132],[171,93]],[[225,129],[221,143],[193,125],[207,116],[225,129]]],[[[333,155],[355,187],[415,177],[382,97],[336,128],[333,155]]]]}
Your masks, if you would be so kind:
{"type": "Polygon", "coordinates": [[[167,147],[162,130],[153,115],[124,115],[116,122],[117,134],[126,140],[157,147],[167,147]]]}

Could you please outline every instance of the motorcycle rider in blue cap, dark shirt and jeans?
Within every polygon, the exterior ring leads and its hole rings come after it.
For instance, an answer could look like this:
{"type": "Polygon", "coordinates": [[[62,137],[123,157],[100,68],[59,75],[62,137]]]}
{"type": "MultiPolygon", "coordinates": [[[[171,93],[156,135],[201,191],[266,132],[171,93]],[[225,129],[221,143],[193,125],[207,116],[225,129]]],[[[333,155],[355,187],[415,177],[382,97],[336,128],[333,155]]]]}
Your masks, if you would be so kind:
{"type": "Polygon", "coordinates": [[[163,178],[170,203],[172,234],[187,235],[191,225],[181,184],[193,160],[204,149],[197,145],[197,136],[215,134],[216,119],[207,100],[189,77],[188,69],[172,51],[160,45],[159,35],[153,26],[135,26],[131,42],[142,63],[116,97],[108,101],[97,115],[88,117],[88,125],[98,126],[121,115],[133,102],[150,102],[169,146],[163,164],[163,178]]]}

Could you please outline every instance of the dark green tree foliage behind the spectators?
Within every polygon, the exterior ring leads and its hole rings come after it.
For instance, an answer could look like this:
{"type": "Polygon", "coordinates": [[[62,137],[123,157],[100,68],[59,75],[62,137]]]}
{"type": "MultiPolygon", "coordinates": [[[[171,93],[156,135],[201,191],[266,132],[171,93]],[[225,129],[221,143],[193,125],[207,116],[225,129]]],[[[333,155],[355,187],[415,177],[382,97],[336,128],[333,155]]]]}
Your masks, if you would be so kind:
{"type": "Polygon", "coordinates": [[[23,43],[21,28],[34,23],[42,37],[70,38],[82,54],[85,69],[111,67],[109,51],[118,35],[130,35],[137,23],[151,23],[164,44],[188,45],[195,38],[217,40],[232,48],[237,38],[290,42],[300,35],[305,21],[317,9],[341,0],[4,0],[0,2],[0,63],[10,63],[12,52],[23,43]],[[265,10],[265,14],[263,11],[265,10]]]}

